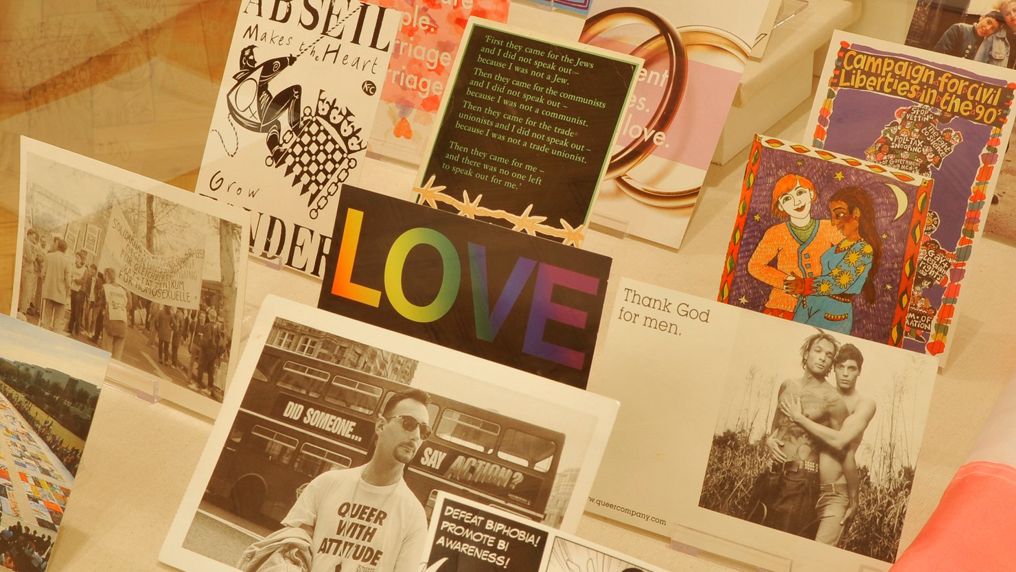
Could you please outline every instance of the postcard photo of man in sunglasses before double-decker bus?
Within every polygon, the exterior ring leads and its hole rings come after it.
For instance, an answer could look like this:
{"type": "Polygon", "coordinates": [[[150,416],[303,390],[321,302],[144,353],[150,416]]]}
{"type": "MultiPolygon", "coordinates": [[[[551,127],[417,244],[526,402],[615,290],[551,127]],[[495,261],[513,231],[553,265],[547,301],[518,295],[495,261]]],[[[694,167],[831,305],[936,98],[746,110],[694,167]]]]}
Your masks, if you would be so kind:
{"type": "Polygon", "coordinates": [[[163,548],[183,570],[256,568],[283,539],[311,570],[402,570],[438,491],[574,528],[617,409],[275,297],[234,387],[163,548]]]}

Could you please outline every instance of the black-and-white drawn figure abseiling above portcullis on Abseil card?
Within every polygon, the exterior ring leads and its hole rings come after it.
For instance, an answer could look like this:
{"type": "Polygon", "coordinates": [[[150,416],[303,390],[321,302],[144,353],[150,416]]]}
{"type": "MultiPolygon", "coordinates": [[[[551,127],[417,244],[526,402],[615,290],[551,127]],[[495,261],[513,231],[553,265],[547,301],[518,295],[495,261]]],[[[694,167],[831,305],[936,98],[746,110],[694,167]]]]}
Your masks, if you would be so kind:
{"type": "Polygon", "coordinates": [[[258,65],[254,46],[240,53],[240,71],[233,74],[237,84],[226,97],[230,116],[245,129],[267,133],[265,143],[272,162],[277,166],[284,152],[281,146],[282,126],[279,118],[287,115],[290,129],[300,132],[300,85],[290,85],[272,96],[268,84],[283,69],[297,61],[296,56],[274,58],[258,65]]]}

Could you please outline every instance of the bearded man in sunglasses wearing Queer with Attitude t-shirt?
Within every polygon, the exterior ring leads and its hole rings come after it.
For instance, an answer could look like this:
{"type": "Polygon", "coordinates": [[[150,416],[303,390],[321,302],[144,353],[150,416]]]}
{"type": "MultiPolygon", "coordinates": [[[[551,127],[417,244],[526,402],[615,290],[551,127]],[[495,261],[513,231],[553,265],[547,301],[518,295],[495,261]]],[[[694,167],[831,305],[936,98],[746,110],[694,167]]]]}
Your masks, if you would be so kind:
{"type": "Polygon", "coordinates": [[[300,494],[282,524],[310,535],[310,572],[420,569],[427,519],[402,471],[431,435],[429,402],[420,389],[393,394],[367,464],[322,472],[300,494]]]}

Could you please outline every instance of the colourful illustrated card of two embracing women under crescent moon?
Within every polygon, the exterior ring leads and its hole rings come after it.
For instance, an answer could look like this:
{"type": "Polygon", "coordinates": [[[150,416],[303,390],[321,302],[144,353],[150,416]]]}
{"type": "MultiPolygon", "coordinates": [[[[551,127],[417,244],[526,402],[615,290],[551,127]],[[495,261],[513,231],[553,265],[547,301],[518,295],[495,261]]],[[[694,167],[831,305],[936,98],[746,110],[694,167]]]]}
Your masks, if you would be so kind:
{"type": "Polygon", "coordinates": [[[932,180],[757,135],[719,301],[903,345],[932,180]]]}

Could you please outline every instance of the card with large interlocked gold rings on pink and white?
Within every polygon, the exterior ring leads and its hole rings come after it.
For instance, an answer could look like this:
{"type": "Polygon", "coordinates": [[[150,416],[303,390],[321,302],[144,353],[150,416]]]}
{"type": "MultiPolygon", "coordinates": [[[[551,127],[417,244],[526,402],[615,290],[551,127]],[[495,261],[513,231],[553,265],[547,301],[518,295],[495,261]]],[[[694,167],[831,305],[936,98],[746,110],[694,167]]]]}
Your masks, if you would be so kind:
{"type": "Polygon", "coordinates": [[[765,9],[763,0],[722,10],[708,0],[592,4],[580,41],[645,59],[593,223],[681,246],[765,9]]]}

